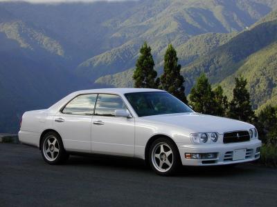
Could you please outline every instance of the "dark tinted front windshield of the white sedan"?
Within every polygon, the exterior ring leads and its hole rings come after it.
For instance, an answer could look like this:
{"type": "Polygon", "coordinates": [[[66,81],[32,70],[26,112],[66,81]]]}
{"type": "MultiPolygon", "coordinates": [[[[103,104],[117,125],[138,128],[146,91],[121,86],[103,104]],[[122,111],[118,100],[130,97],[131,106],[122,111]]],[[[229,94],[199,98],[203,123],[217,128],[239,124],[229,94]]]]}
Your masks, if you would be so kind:
{"type": "Polygon", "coordinates": [[[139,117],[194,112],[168,92],[132,92],[125,97],[139,117]]]}

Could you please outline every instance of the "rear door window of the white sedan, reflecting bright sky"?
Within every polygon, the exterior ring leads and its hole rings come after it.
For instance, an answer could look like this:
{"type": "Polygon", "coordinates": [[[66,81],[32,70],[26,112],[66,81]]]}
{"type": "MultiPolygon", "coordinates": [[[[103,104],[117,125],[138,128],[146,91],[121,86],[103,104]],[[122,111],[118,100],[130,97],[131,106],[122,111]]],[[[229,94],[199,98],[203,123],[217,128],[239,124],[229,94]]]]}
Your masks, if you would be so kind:
{"type": "Polygon", "coordinates": [[[79,95],[64,107],[62,112],[70,115],[93,115],[97,94],[79,95]]]}

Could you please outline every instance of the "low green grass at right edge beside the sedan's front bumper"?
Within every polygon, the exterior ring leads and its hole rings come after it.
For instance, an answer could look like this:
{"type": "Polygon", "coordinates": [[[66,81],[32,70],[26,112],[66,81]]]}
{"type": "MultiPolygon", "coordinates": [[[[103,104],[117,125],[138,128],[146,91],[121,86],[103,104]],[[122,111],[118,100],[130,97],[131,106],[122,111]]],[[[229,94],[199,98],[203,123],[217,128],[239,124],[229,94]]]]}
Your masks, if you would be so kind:
{"type": "Polygon", "coordinates": [[[263,144],[260,149],[260,163],[277,167],[277,144],[263,144]]]}

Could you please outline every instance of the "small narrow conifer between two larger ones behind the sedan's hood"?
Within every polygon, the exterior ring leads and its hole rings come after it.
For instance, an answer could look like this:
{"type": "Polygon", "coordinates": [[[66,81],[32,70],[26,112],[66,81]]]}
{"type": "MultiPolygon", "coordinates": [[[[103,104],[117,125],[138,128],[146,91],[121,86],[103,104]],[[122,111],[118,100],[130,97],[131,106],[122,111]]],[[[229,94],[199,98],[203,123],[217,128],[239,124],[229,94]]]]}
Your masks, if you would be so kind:
{"type": "Polygon", "coordinates": [[[223,89],[221,86],[217,86],[213,90],[215,95],[215,115],[220,117],[226,117],[226,113],[229,107],[228,99],[223,94],[223,89]]]}

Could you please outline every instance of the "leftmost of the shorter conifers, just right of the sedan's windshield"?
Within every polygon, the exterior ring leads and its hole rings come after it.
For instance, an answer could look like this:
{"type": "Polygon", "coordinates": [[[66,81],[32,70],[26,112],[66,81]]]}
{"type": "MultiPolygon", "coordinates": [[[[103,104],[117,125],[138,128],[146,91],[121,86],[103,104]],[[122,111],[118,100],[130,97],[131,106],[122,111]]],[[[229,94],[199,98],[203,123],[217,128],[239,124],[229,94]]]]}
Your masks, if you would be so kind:
{"type": "Polygon", "coordinates": [[[197,78],[195,86],[190,91],[190,101],[193,110],[215,115],[215,95],[204,72],[197,78]]]}

